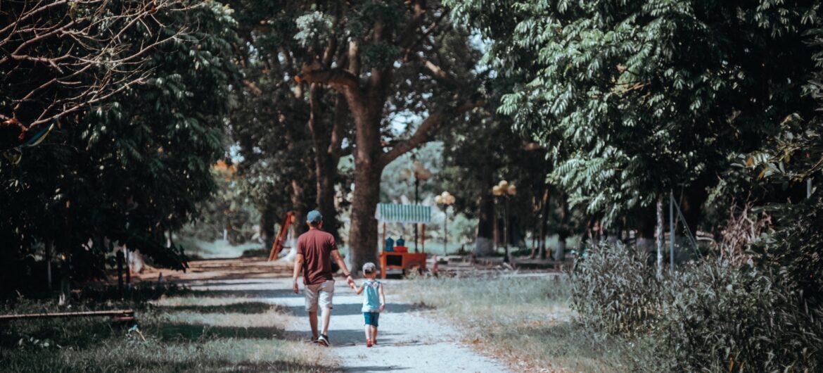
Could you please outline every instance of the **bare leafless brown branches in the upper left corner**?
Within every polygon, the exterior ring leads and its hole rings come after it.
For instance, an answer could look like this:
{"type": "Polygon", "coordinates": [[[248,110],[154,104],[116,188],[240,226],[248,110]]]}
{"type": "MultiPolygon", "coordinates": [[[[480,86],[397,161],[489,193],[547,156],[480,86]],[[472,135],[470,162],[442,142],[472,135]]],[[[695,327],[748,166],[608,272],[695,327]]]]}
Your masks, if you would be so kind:
{"type": "Polygon", "coordinates": [[[156,12],[185,7],[179,0],[133,0],[119,7],[97,0],[4,2],[0,14],[9,22],[0,28],[0,149],[21,144],[30,128],[144,82],[146,54],[179,30],[140,39],[128,34],[156,30],[156,12]]]}

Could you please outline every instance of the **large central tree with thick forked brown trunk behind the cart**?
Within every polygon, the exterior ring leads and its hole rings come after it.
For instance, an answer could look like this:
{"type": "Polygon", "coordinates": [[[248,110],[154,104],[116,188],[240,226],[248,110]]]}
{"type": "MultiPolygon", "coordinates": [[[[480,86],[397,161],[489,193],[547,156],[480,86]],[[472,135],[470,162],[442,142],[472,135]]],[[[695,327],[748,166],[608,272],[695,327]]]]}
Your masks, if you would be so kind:
{"type": "Polygon", "coordinates": [[[298,22],[295,37],[314,61],[296,79],[340,92],[356,127],[353,268],[376,261],[374,210],[385,166],[480,99],[471,86],[476,53],[447,16],[422,1],[333,2],[298,22]],[[398,122],[407,124],[402,133],[389,128],[398,122]]]}

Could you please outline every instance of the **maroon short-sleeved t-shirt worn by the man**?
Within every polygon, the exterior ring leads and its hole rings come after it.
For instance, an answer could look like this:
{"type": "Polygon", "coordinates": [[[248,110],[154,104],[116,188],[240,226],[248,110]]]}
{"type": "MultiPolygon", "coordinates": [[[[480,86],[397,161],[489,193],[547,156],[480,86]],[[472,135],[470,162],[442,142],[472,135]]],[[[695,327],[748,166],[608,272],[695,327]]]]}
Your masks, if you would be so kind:
{"type": "Polygon", "coordinates": [[[306,285],[332,280],[332,250],[337,249],[334,236],[319,229],[309,229],[297,239],[297,254],[303,254],[303,278],[306,285]]]}

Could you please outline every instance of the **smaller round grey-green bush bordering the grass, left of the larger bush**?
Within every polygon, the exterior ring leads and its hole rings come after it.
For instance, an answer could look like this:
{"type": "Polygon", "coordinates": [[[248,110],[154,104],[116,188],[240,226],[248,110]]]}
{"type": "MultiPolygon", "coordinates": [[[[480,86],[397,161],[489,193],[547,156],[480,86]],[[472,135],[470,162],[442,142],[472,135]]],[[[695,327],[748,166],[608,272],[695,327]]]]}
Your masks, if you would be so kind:
{"type": "Polygon", "coordinates": [[[625,336],[645,333],[661,309],[660,282],[647,255],[600,245],[575,268],[572,305],[588,327],[625,336]]]}

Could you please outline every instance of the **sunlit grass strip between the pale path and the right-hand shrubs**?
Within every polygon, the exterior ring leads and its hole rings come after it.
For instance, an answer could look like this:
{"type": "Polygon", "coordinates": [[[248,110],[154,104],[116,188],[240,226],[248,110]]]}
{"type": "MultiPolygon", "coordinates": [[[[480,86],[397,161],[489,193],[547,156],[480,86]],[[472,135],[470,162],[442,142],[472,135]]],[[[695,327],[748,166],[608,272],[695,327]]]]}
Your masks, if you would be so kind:
{"type": "Polygon", "coordinates": [[[465,329],[464,342],[515,371],[634,371],[643,353],[574,322],[564,275],[425,278],[402,282],[397,291],[421,312],[465,329]]]}

